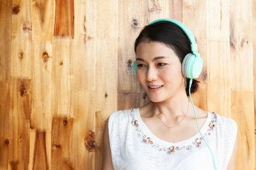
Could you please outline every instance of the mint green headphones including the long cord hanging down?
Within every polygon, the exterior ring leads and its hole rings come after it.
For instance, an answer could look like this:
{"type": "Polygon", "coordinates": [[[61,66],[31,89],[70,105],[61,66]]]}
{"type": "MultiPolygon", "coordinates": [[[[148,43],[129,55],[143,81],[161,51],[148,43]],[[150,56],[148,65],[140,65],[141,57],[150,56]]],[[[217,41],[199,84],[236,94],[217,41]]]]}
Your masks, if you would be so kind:
{"type": "MultiPolygon", "coordinates": [[[[192,51],[192,53],[188,53],[184,57],[184,59],[182,60],[182,67],[181,67],[182,70],[181,71],[182,71],[183,76],[186,76],[187,78],[190,78],[190,80],[189,80],[189,97],[190,97],[191,104],[193,106],[193,110],[195,112],[197,129],[198,129],[198,132],[200,133],[200,136],[202,137],[202,139],[204,140],[205,144],[207,145],[207,147],[209,148],[209,150],[211,152],[212,164],[214,166],[214,169],[217,170],[218,168],[216,166],[216,161],[215,161],[215,158],[214,158],[214,154],[212,153],[212,150],[211,150],[210,146],[205,141],[205,139],[202,136],[201,131],[199,129],[198,120],[197,120],[196,111],[195,111],[195,106],[193,104],[193,101],[192,101],[192,98],[191,98],[191,93],[190,93],[193,78],[198,78],[198,76],[200,75],[200,73],[202,71],[202,68],[203,68],[203,60],[200,56],[200,53],[197,52],[197,45],[196,45],[195,37],[193,36],[193,33],[190,31],[190,29],[185,24],[183,24],[182,22],[179,22],[178,20],[163,18],[163,19],[159,19],[159,20],[154,20],[153,22],[151,22],[148,25],[151,25],[151,24],[154,24],[154,23],[160,22],[160,21],[168,21],[168,22],[172,22],[173,24],[178,25],[185,32],[185,34],[189,38],[189,41],[191,42],[191,51],[192,51]]],[[[137,62],[135,60],[133,62],[133,71],[134,71],[135,75],[136,75],[136,67],[137,67],[137,62]]]]}

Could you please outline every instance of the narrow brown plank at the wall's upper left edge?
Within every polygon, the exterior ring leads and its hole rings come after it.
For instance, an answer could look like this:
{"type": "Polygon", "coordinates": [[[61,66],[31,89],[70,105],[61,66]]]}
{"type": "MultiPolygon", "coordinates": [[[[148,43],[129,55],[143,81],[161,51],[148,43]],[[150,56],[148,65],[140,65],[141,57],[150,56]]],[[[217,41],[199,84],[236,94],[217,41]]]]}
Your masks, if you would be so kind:
{"type": "Polygon", "coordinates": [[[0,81],[10,76],[12,1],[0,2],[0,81]]]}

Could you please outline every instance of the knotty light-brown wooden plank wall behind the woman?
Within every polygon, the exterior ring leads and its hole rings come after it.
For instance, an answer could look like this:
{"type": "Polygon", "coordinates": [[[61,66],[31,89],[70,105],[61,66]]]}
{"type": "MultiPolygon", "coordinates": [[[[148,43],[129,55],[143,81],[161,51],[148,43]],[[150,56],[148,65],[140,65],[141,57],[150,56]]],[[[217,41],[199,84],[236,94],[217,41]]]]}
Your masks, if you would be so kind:
{"type": "Polygon", "coordinates": [[[148,102],[133,45],[157,18],[195,34],[204,68],[193,99],[236,120],[237,169],[255,169],[255,9],[255,0],[1,0],[0,169],[100,169],[105,120],[148,102]]]}

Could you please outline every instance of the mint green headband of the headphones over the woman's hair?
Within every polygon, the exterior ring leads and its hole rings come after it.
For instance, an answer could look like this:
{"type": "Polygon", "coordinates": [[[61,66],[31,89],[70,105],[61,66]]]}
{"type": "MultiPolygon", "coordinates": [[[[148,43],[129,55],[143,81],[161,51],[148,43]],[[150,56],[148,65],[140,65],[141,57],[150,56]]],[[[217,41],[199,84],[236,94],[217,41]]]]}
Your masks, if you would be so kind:
{"type": "Polygon", "coordinates": [[[172,20],[172,19],[168,19],[168,18],[162,18],[159,20],[154,20],[153,22],[151,22],[148,25],[154,24],[156,22],[160,22],[160,21],[169,21],[172,22],[173,24],[178,25],[184,32],[185,34],[188,36],[189,41],[191,42],[191,51],[196,55],[196,52],[198,50],[197,45],[196,45],[196,40],[195,37],[193,35],[193,33],[190,31],[190,29],[183,24],[182,22],[179,22],[179,20],[172,20]]]}

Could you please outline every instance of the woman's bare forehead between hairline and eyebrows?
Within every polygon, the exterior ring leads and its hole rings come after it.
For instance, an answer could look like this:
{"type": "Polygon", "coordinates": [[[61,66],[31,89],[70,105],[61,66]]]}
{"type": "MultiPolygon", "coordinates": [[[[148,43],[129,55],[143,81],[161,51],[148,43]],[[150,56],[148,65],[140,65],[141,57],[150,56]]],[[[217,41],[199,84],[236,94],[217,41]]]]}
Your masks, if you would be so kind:
{"type": "Polygon", "coordinates": [[[161,56],[164,56],[164,59],[178,59],[172,48],[157,41],[141,42],[136,48],[137,58],[147,60],[161,56]]]}

